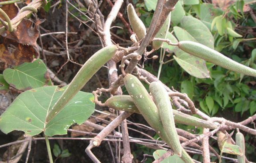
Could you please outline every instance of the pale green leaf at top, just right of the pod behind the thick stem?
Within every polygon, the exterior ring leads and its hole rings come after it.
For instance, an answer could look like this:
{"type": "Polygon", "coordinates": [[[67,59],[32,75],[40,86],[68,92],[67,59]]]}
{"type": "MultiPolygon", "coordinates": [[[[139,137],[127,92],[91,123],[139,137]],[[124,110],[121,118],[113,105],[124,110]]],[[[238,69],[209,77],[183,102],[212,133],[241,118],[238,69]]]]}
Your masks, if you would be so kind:
{"type": "Polygon", "coordinates": [[[178,1],[175,5],[175,9],[172,11],[171,15],[171,22],[174,25],[177,25],[180,23],[182,18],[185,16],[185,11],[183,9],[183,6],[181,5],[180,1],[178,1]]]}

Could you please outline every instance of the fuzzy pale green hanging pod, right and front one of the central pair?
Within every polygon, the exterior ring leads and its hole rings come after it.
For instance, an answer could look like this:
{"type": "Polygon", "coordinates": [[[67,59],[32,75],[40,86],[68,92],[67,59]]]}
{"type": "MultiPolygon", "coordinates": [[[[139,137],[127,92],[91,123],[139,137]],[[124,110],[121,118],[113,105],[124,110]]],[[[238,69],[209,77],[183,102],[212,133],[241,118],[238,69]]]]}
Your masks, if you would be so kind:
{"type": "Polygon", "coordinates": [[[152,82],[149,90],[153,96],[164,130],[172,143],[173,152],[181,156],[182,147],[176,131],[172,104],[165,88],[159,82],[152,82]]]}

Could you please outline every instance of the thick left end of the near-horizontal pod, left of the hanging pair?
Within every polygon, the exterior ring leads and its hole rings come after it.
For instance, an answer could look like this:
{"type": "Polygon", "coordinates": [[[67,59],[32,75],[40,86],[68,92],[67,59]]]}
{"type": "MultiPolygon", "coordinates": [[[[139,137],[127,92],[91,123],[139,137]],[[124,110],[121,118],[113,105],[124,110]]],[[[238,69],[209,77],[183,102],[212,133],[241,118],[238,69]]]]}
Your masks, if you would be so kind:
{"type": "Polygon", "coordinates": [[[112,96],[105,102],[105,105],[116,110],[140,114],[139,110],[131,99],[131,96],[129,95],[112,96]]]}

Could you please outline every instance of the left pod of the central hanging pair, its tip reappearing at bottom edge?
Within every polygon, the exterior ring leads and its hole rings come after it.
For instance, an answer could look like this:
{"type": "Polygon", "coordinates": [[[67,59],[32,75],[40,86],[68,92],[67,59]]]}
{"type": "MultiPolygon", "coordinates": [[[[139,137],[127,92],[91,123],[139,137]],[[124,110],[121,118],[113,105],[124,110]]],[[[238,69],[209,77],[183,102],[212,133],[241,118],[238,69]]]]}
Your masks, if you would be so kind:
{"type": "MultiPolygon", "coordinates": [[[[131,74],[127,74],[125,76],[124,82],[126,90],[131,95],[133,102],[135,103],[142,116],[145,118],[148,124],[156,130],[162,140],[164,140],[167,145],[173,149],[172,143],[170,142],[161,123],[158,109],[148,94],[146,88],[139,81],[139,79],[131,74]]],[[[186,153],[184,149],[182,151],[181,159],[185,163],[194,163],[192,158],[186,153]]]]}

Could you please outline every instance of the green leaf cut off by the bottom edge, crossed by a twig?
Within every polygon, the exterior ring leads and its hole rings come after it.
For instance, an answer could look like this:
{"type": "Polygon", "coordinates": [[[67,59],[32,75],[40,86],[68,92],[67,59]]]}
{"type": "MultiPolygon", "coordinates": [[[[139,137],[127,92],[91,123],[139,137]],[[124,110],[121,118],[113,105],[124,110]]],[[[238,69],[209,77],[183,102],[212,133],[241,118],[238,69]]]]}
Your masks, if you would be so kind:
{"type": "MultiPolygon", "coordinates": [[[[165,151],[163,149],[158,149],[153,153],[153,156],[154,156],[155,160],[157,160],[166,152],[167,151],[165,151]]],[[[183,160],[181,160],[181,158],[178,155],[174,154],[174,155],[171,155],[171,156],[165,158],[163,161],[161,161],[161,163],[185,163],[185,162],[183,160]]]]}

